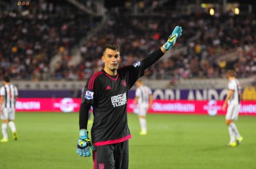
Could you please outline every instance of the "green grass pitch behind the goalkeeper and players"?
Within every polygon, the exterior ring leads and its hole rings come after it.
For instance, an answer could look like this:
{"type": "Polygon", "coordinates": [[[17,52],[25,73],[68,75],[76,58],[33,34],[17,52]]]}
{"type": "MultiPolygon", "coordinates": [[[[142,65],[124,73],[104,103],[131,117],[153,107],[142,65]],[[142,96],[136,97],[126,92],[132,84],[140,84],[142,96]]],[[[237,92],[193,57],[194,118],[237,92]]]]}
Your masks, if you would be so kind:
{"type": "MultiPolygon", "coordinates": [[[[130,169],[256,168],[256,117],[241,116],[236,125],[244,141],[228,148],[224,116],[148,115],[148,135],[139,135],[139,120],[128,115],[130,169]]],[[[78,113],[17,113],[19,139],[0,144],[0,168],[93,168],[92,158],[75,150],[78,113]]],[[[91,127],[91,125],[89,125],[91,127]]]]}

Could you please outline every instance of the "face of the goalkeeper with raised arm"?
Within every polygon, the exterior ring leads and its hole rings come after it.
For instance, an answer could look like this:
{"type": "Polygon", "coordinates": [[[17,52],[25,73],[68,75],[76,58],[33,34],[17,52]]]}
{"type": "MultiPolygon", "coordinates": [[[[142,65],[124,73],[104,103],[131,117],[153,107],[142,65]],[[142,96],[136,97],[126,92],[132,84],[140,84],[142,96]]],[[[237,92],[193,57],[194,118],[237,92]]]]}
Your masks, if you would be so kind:
{"type": "Polygon", "coordinates": [[[105,68],[113,72],[117,70],[121,62],[120,52],[106,48],[106,51],[102,56],[102,61],[105,64],[105,68]]]}

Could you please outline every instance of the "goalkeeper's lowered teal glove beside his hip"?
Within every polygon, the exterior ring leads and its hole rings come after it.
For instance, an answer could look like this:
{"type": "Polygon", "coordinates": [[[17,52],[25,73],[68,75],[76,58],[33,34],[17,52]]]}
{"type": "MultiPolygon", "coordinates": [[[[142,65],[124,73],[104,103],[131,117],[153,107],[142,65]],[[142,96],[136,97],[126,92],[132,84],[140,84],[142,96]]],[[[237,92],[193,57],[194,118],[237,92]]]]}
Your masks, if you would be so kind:
{"type": "Polygon", "coordinates": [[[92,141],[88,137],[88,131],[86,129],[81,129],[79,131],[79,139],[76,153],[79,154],[79,156],[89,157],[91,156],[89,147],[92,150],[96,149],[94,144],[92,144],[92,141]]]}

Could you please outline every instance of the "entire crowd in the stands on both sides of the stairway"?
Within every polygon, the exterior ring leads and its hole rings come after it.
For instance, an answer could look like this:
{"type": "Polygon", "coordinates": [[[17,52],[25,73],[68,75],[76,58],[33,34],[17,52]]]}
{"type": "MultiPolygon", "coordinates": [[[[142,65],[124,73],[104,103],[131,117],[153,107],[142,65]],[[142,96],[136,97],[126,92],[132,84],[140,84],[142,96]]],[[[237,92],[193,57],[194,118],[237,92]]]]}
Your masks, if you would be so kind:
{"type": "Polygon", "coordinates": [[[164,44],[176,25],[183,27],[183,36],[172,52],[183,52],[160,60],[146,71],[148,78],[218,78],[230,66],[238,77],[256,73],[255,15],[113,14],[104,28],[79,48],[82,62],[69,66],[71,48],[99,19],[54,11],[54,15],[0,15],[0,76],[9,73],[11,78],[24,80],[83,80],[102,69],[104,44],[119,44],[123,65],[133,64],[164,44]],[[226,60],[224,56],[232,52],[233,60],[226,60]],[[49,64],[55,54],[61,54],[62,61],[51,72],[49,64]]]}

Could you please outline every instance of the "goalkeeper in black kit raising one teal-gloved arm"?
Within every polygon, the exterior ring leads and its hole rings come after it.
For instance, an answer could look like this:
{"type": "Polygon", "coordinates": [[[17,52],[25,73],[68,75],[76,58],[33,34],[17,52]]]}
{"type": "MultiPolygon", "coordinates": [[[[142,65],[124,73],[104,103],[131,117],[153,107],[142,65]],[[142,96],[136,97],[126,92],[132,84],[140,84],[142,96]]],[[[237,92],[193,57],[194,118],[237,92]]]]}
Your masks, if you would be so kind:
{"type": "Polygon", "coordinates": [[[144,70],[159,60],[174,46],[181,36],[177,26],[167,42],[146,58],[130,66],[119,68],[119,46],[106,44],[102,61],[104,69],[87,81],[79,110],[79,139],[77,154],[88,157],[93,151],[94,168],[127,169],[129,164],[128,140],[131,133],[127,125],[127,94],[144,70]],[[119,69],[118,69],[119,68],[119,69]],[[88,111],[93,107],[92,141],[88,136],[88,111]]]}

